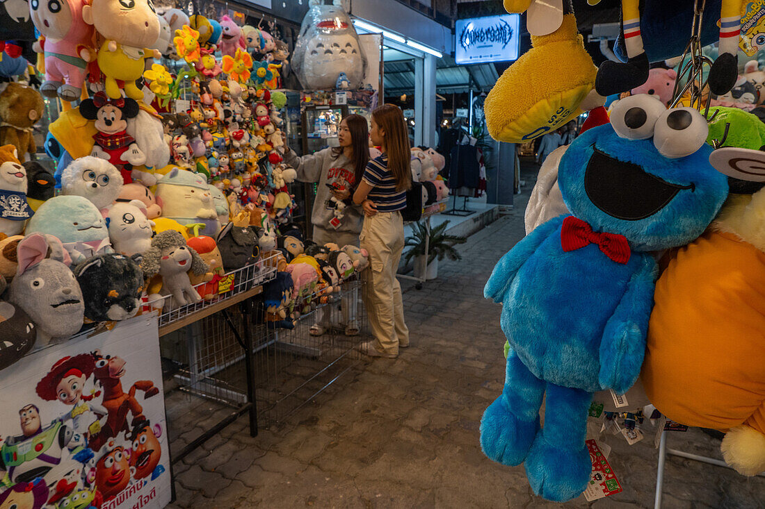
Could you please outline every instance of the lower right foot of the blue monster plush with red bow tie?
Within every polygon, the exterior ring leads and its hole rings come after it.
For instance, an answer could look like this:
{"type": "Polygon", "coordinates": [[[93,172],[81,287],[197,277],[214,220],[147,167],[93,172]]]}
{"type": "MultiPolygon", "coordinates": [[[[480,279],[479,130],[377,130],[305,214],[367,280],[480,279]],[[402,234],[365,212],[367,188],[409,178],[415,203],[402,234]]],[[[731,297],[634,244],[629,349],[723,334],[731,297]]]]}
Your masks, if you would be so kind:
{"type": "Polygon", "coordinates": [[[586,447],[572,451],[553,445],[542,433],[526,458],[526,477],[535,494],[549,501],[566,502],[587,488],[592,472],[586,447]]]}

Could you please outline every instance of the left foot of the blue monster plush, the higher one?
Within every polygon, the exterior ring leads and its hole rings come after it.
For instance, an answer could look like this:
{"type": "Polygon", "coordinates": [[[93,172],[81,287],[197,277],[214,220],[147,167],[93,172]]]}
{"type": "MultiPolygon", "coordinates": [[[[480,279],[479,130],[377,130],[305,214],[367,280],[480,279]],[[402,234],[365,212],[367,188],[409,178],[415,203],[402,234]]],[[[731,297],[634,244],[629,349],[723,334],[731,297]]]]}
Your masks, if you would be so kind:
{"type": "Polygon", "coordinates": [[[489,459],[503,465],[520,465],[539,430],[539,417],[520,420],[507,407],[504,396],[498,397],[483,413],[480,422],[480,446],[489,459]]]}

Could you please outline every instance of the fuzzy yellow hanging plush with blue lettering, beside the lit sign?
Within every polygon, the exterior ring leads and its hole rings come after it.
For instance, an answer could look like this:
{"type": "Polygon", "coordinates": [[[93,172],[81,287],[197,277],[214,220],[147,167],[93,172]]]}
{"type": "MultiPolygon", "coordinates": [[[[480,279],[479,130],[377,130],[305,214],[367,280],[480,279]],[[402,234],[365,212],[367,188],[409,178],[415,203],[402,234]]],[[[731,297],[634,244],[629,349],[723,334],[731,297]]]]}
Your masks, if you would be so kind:
{"type": "MultiPolygon", "coordinates": [[[[528,3],[506,0],[505,6],[528,3]]],[[[573,14],[563,15],[552,34],[532,34],[531,40],[532,49],[500,76],[483,107],[496,140],[539,138],[604,103],[593,90],[597,67],[584,50],[573,14]]]]}

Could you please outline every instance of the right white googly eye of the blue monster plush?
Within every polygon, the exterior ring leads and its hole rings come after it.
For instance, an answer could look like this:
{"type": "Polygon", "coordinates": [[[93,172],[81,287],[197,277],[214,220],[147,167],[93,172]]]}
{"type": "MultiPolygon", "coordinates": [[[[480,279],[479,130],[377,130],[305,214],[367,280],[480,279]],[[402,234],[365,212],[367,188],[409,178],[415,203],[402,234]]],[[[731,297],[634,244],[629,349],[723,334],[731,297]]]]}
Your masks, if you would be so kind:
{"type": "Polygon", "coordinates": [[[656,121],[653,144],[662,156],[679,159],[702,148],[708,135],[704,115],[692,108],[673,108],[656,121]]]}

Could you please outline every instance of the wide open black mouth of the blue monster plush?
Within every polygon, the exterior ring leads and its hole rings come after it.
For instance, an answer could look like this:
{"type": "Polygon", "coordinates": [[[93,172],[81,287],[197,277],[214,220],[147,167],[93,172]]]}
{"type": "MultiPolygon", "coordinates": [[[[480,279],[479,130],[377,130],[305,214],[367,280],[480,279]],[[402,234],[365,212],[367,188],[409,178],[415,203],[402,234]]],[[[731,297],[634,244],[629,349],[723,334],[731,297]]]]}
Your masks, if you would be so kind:
{"type": "Polygon", "coordinates": [[[584,173],[584,191],[598,209],[625,221],[653,216],[666,207],[681,190],[695,190],[669,183],[646,173],[642,167],[625,163],[592,146],[593,154],[584,173]]]}

